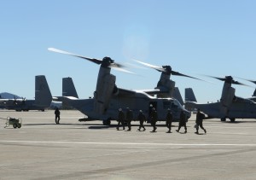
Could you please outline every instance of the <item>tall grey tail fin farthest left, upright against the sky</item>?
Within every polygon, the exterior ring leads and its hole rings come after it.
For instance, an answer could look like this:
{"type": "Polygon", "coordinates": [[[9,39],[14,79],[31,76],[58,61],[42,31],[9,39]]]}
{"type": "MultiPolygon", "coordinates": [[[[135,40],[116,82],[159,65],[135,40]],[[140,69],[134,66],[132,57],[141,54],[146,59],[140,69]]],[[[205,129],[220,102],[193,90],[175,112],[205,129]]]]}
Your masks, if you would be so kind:
{"type": "Polygon", "coordinates": [[[39,107],[49,107],[52,96],[45,76],[36,76],[35,85],[35,104],[39,107]]]}

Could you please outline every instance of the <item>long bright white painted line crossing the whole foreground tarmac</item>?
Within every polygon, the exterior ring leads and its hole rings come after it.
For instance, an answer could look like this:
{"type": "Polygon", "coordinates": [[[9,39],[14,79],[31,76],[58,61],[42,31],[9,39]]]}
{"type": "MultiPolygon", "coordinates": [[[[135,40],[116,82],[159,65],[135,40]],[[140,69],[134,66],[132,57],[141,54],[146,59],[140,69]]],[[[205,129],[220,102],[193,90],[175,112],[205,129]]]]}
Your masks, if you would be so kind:
{"type": "Polygon", "coordinates": [[[53,144],[96,144],[96,145],[150,145],[150,146],[237,146],[237,147],[256,147],[254,143],[161,143],[161,142],[39,142],[39,141],[4,141],[9,143],[53,143],[53,144]]]}

